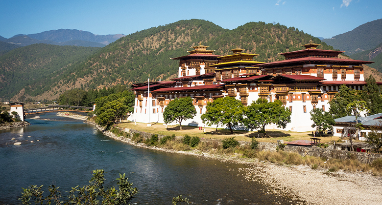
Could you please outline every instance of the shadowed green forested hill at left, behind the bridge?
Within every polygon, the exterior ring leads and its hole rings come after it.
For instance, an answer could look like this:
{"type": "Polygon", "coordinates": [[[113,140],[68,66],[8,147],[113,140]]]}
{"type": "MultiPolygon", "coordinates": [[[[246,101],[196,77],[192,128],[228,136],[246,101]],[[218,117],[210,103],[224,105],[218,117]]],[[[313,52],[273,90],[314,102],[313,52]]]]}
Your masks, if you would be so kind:
{"type": "Polygon", "coordinates": [[[33,44],[0,56],[0,98],[32,98],[51,90],[68,76],[70,66],[86,60],[99,48],[33,44]]]}

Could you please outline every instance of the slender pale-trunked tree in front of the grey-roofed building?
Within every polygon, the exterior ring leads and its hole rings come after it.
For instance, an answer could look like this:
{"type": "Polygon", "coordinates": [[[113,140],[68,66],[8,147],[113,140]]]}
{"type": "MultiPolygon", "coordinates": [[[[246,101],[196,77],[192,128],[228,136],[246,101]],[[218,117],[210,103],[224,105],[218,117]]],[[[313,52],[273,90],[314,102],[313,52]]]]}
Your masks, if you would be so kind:
{"type": "MultiPolygon", "coordinates": [[[[351,112],[356,117],[356,123],[355,126],[357,128],[356,136],[358,136],[359,130],[362,128],[362,123],[358,123],[358,118],[361,116],[361,112],[369,112],[369,108],[367,108],[367,103],[365,101],[353,101],[346,105],[346,111],[351,112]]],[[[350,141],[350,146],[352,147],[352,151],[354,151],[353,148],[353,137],[350,133],[348,134],[347,138],[350,141]]]]}

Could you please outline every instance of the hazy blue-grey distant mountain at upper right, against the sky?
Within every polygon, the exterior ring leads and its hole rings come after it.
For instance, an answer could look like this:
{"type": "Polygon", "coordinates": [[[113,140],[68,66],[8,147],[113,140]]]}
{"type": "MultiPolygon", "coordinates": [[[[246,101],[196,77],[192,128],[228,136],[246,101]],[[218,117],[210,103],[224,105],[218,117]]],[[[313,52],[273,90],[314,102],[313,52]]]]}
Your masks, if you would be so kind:
{"type": "Polygon", "coordinates": [[[382,19],[364,23],[352,31],[322,40],[346,55],[373,49],[382,43],[382,19]]]}

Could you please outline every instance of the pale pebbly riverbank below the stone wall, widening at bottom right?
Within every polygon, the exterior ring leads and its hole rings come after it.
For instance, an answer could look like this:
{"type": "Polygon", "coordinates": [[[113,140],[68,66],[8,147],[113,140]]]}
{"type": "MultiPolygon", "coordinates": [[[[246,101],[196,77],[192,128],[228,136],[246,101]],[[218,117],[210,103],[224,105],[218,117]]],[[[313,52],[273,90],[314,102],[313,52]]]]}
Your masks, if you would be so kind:
{"type": "MultiPolygon", "coordinates": [[[[103,130],[102,127],[96,126],[99,130],[103,130]]],[[[138,147],[247,164],[247,168],[240,170],[240,173],[248,181],[257,180],[268,184],[270,189],[264,191],[264,194],[287,195],[305,201],[305,204],[379,205],[382,201],[382,178],[362,172],[328,172],[327,169],[311,169],[306,165],[263,163],[256,159],[240,158],[238,155],[210,154],[197,150],[168,150],[149,147],[144,143],[135,143],[129,138],[118,137],[110,131],[105,131],[104,134],[112,139],[138,147]]]]}

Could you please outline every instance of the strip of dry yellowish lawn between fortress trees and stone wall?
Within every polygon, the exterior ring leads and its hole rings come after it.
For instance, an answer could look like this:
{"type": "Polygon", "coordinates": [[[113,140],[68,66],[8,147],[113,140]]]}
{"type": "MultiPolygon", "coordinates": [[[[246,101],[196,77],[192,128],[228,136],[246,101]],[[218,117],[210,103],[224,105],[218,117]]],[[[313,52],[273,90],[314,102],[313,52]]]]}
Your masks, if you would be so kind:
{"type": "MultiPolygon", "coordinates": [[[[143,132],[155,133],[161,135],[176,135],[176,136],[184,136],[186,134],[192,136],[196,136],[199,138],[205,139],[219,139],[224,140],[227,138],[235,137],[235,140],[238,141],[247,141],[251,142],[253,137],[262,137],[262,135],[258,135],[258,132],[249,132],[249,131],[241,131],[234,130],[234,134],[231,134],[230,130],[227,129],[217,129],[216,128],[205,128],[206,132],[203,133],[202,130],[199,130],[199,127],[194,126],[182,126],[183,130],[180,130],[179,125],[166,126],[161,123],[154,123],[151,127],[147,127],[146,123],[135,123],[125,122],[118,125],[122,128],[131,128],[143,132]]],[[[311,132],[292,132],[292,131],[283,131],[283,130],[267,130],[267,138],[258,138],[259,142],[267,142],[267,143],[276,143],[277,140],[284,140],[284,142],[290,142],[295,140],[309,140],[313,137],[311,132]]],[[[331,141],[337,141],[338,137],[328,136],[328,137],[320,137],[321,143],[328,143],[331,141]]]]}

